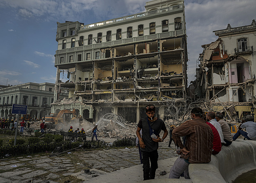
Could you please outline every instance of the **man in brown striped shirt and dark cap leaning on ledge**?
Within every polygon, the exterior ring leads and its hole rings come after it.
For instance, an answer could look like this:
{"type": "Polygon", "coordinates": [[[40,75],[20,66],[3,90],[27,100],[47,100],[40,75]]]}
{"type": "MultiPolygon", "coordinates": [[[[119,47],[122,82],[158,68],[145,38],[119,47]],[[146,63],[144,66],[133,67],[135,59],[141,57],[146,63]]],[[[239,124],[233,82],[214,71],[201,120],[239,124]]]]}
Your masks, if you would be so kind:
{"type": "Polygon", "coordinates": [[[189,177],[190,163],[210,162],[213,149],[213,132],[204,119],[203,111],[199,107],[191,110],[192,120],[185,121],[172,132],[174,143],[180,147],[180,157],[171,167],[169,179],[179,179],[184,172],[185,179],[189,177]],[[183,146],[180,137],[187,136],[183,146]]]}

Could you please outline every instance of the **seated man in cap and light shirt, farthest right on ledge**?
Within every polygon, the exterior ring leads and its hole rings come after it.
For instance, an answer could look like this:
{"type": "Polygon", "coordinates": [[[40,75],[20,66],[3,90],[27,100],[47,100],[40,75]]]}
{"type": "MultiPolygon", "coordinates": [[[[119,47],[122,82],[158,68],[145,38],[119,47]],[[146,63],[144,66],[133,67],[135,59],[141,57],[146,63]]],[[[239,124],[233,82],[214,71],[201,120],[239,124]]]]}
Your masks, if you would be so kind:
{"type": "Polygon", "coordinates": [[[245,122],[242,121],[238,129],[238,132],[233,136],[233,141],[235,141],[240,135],[244,136],[248,140],[256,140],[256,123],[252,121],[251,115],[246,116],[245,122]],[[242,130],[243,128],[246,129],[246,132],[242,130]]]}

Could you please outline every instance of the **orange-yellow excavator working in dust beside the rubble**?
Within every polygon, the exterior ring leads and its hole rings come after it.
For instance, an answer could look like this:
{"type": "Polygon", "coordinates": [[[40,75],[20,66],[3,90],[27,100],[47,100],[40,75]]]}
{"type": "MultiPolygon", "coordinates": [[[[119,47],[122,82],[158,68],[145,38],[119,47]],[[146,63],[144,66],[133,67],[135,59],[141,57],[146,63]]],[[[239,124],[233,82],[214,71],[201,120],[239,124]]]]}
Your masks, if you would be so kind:
{"type": "Polygon", "coordinates": [[[45,124],[46,128],[52,128],[58,123],[71,123],[76,120],[78,120],[78,117],[76,116],[75,109],[73,109],[73,111],[64,109],[61,110],[58,114],[50,113],[49,116],[46,116],[45,124]]]}

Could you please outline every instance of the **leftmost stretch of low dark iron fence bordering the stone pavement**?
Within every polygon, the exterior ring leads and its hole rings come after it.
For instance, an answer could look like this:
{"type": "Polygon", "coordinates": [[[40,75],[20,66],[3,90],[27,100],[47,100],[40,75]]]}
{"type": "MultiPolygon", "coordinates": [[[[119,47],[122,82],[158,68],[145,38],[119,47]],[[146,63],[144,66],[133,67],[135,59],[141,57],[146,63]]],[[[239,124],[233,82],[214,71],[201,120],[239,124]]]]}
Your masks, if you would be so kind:
{"type": "Polygon", "coordinates": [[[5,146],[5,147],[0,147],[0,157],[42,153],[46,151],[52,152],[56,148],[56,146],[62,146],[64,151],[68,149],[72,149],[71,142],[37,143],[37,144],[30,144],[30,145],[5,146]]]}

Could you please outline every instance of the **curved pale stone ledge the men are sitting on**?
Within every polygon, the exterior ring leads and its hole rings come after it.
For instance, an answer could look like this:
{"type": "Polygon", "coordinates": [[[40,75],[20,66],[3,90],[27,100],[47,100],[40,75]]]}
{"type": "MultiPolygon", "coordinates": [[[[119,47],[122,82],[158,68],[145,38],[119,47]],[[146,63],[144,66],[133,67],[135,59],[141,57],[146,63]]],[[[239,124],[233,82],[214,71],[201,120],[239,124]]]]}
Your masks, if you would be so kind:
{"type": "MultiPolygon", "coordinates": [[[[230,146],[223,146],[221,152],[212,155],[211,161],[204,164],[190,164],[190,180],[157,179],[167,183],[232,183],[236,177],[256,168],[256,140],[237,139],[230,146]]],[[[147,182],[155,182],[150,180],[147,182]]]]}

